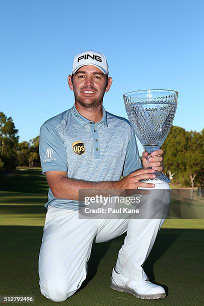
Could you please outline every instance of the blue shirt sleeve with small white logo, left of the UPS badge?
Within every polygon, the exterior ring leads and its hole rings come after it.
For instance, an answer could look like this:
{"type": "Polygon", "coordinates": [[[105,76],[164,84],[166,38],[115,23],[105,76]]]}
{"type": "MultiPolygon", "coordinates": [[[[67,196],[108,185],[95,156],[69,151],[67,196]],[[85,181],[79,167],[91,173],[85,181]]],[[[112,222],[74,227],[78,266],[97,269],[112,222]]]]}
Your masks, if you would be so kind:
{"type": "Polygon", "coordinates": [[[39,130],[39,156],[42,174],[46,171],[67,172],[64,143],[57,131],[49,124],[42,124],[39,130]]]}

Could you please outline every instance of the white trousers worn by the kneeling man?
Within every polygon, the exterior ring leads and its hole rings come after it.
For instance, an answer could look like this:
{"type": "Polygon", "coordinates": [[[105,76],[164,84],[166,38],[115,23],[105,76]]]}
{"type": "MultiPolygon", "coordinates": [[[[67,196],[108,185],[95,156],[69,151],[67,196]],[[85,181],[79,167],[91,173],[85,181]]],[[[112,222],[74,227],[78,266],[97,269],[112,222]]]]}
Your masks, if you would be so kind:
{"type": "MultiPolygon", "coordinates": [[[[154,188],[166,189],[162,201],[168,205],[169,185],[157,183],[154,188]]],[[[150,205],[155,201],[149,197],[150,205]]],[[[147,219],[79,219],[78,211],[48,206],[39,252],[41,293],[53,301],[71,296],[86,277],[93,239],[96,243],[108,241],[125,231],[115,268],[127,278],[145,280],[142,265],[164,220],[165,215],[147,219]]]]}

